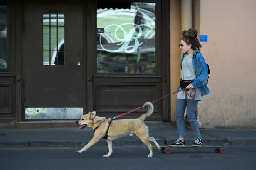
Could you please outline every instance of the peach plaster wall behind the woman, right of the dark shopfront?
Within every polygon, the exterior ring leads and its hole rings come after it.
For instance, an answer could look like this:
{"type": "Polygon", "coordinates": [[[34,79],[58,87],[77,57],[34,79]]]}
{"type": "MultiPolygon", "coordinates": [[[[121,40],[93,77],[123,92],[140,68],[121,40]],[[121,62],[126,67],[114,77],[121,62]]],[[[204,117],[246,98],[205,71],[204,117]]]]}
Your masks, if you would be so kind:
{"type": "MultiPolygon", "coordinates": [[[[182,9],[192,6],[192,26],[207,41],[201,41],[202,54],[209,64],[211,93],[199,102],[198,121],[203,128],[256,128],[256,45],[255,0],[171,0],[171,79],[175,91],[179,82],[177,43],[184,22],[182,9]],[[182,21],[183,19],[183,21],[182,21]]],[[[186,10],[189,11],[189,10],[186,10]]],[[[187,28],[184,28],[187,29],[187,28]]],[[[198,36],[198,38],[200,38],[198,36]]],[[[175,120],[175,96],[171,97],[171,120],[175,120]]]]}

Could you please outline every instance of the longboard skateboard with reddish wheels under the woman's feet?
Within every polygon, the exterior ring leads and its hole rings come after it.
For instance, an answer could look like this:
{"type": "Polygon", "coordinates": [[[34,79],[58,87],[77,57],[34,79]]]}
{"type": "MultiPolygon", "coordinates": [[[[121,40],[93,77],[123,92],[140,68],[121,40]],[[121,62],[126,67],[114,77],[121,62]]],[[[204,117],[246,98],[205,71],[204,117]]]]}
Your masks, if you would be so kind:
{"type": "Polygon", "coordinates": [[[161,151],[161,153],[167,153],[169,154],[171,152],[171,148],[214,148],[215,153],[226,153],[226,147],[227,146],[180,146],[180,147],[174,147],[174,146],[169,146],[169,145],[161,145],[159,148],[159,151],[161,151]]]}

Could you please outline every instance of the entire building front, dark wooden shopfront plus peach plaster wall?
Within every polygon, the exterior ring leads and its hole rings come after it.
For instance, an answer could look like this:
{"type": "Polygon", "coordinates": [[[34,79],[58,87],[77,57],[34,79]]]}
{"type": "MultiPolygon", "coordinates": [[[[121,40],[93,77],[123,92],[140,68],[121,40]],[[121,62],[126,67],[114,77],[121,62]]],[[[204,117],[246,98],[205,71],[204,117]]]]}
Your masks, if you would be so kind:
{"type": "MultiPolygon", "coordinates": [[[[200,126],[255,128],[255,5],[0,0],[0,126],[74,126],[89,111],[112,117],[175,92],[181,32],[193,27],[211,69],[200,126]]],[[[156,101],[147,120],[174,123],[175,98],[156,101]]]]}

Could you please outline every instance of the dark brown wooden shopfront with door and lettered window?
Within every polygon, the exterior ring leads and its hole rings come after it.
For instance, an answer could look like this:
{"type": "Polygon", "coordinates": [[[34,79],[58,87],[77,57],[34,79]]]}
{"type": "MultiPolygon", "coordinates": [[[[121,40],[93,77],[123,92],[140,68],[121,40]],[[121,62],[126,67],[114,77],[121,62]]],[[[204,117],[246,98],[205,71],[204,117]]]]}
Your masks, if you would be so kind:
{"type": "MultiPolygon", "coordinates": [[[[65,126],[94,110],[113,117],[168,94],[169,6],[1,0],[2,126],[65,126]]],[[[168,121],[168,99],[154,105],[148,120],[168,121]]]]}

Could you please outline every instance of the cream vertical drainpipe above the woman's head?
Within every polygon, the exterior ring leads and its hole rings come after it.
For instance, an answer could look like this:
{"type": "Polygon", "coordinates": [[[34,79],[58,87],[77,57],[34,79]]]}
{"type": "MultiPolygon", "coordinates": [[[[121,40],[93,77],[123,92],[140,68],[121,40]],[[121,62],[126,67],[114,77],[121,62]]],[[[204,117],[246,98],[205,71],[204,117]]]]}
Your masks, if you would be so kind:
{"type": "Polygon", "coordinates": [[[192,0],[181,0],[181,32],[192,28],[192,0]]]}

